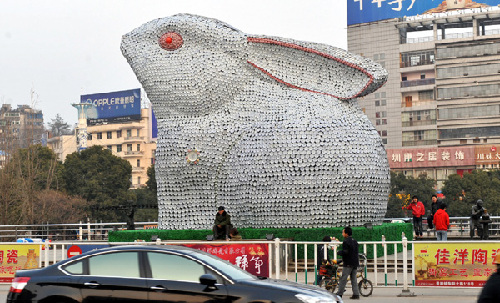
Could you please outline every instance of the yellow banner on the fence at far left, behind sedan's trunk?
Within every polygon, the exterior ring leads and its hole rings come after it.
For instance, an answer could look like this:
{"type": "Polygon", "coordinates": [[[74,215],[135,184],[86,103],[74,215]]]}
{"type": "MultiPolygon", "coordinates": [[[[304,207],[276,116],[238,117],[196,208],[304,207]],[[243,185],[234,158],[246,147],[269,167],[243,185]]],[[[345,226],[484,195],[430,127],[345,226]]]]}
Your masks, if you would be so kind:
{"type": "Polygon", "coordinates": [[[38,268],[40,245],[0,245],[0,282],[10,283],[19,269],[38,268]]]}

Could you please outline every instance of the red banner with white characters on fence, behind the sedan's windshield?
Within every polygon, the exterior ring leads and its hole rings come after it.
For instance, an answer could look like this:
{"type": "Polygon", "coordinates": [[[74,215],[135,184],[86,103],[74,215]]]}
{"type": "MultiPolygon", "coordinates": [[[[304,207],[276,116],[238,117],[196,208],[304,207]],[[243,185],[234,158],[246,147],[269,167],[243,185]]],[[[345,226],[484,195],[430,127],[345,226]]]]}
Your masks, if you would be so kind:
{"type": "Polygon", "coordinates": [[[269,277],[269,250],[267,244],[184,244],[202,250],[259,277],[269,277]]]}

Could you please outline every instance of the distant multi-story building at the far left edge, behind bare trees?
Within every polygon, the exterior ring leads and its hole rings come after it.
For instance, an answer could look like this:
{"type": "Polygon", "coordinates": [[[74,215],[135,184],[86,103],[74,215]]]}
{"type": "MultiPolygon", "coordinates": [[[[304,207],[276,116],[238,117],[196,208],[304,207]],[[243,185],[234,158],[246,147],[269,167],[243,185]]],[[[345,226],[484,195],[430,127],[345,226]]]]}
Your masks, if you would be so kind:
{"type": "Polygon", "coordinates": [[[41,110],[28,105],[12,108],[10,104],[3,104],[0,108],[0,150],[9,153],[41,143],[44,132],[41,110]]]}

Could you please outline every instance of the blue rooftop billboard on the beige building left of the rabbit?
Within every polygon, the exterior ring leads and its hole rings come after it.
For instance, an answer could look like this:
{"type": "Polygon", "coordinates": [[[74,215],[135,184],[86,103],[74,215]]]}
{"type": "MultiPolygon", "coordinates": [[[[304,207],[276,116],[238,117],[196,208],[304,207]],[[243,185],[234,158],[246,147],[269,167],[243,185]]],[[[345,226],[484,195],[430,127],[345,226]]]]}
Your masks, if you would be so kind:
{"type": "Polygon", "coordinates": [[[80,103],[92,104],[87,110],[87,124],[122,123],[141,120],[141,90],[80,96],[80,103]]]}

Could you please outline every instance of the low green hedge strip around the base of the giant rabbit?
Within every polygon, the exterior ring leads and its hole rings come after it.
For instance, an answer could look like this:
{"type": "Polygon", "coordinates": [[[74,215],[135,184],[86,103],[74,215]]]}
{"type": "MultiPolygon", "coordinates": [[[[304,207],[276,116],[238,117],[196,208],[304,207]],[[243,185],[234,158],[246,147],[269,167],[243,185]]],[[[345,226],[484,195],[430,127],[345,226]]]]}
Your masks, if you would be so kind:
{"type": "MultiPolygon", "coordinates": [[[[293,240],[293,241],[309,241],[319,242],[324,236],[332,236],[342,240],[342,227],[332,228],[239,228],[243,239],[265,239],[267,234],[273,234],[276,238],[293,240]]],[[[365,227],[353,227],[353,238],[358,242],[366,241],[381,241],[382,235],[385,235],[386,241],[400,241],[401,233],[407,235],[408,240],[412,240],[413,228],[409,223],[384,223],[382,225],[373,226],[372,229],[365,227]]],[[[133,242],[135,240],[151,241],[151,236],[157,235],[162,240],[206,240],[207,235],[212,234],[211,230],[120,230],[110,231],[108,238],[110,242],[133,242]]],[[[362,251],[360,247],[360,251],[362,251]]],[[[402,251],[401,245],[398,245],[398,252],[402,251]]],[[[292,252],[290,252],[292,253],[292,252]]],[[[298,246],[297,251],[299,258],[303,258],[304,248],[298,246]]],[[[373,245],[367,247],[368,258],[373,258],[373,245]]],[[[394,253],[394,245],[387,246],[387,253],[394,253]]],[[[313,245],[308,246],[308,258],[314,258],[313,245]]],[[[382,245],[377,245],[377,256],[383,255],[382,245]]]]}

